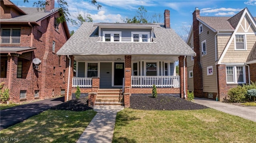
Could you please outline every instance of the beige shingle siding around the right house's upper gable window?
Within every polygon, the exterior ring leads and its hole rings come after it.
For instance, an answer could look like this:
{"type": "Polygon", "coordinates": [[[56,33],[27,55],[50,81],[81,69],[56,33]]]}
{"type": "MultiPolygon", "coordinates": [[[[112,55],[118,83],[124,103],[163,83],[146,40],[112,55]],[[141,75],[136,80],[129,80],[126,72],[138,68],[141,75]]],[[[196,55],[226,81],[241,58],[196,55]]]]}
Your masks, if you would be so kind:
{"type": "Polygon", "coordinates": [[[255,42],[256,35],[246,35],[247,50],[237,51],[234,47],[234,39],[232,39],[232,43],[228,47],[228,50],[222,59],[222,63],[245,63],[255,42]]]}

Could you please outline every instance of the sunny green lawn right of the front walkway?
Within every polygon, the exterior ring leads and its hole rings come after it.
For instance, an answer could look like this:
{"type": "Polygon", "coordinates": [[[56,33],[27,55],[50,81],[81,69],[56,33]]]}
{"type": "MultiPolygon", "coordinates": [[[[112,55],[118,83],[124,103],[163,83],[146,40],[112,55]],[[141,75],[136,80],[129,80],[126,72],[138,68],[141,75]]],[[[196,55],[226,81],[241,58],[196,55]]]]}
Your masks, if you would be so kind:
{"type": "Polygon", "coordinates": [[[114,143],[255,143],[256,123],[214,109],[118,112],[114,143]]]}

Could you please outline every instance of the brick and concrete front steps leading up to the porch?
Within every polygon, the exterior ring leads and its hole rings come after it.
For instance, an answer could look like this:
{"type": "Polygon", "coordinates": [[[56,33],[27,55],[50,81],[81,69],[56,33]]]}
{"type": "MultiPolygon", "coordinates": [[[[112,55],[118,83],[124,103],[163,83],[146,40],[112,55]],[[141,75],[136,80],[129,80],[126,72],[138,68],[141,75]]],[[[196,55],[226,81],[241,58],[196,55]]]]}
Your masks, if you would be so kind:
{"type": "Polygon", "coordinates": [[[123,106],[122,89],[99,89],[95,105],[123,106]]]}

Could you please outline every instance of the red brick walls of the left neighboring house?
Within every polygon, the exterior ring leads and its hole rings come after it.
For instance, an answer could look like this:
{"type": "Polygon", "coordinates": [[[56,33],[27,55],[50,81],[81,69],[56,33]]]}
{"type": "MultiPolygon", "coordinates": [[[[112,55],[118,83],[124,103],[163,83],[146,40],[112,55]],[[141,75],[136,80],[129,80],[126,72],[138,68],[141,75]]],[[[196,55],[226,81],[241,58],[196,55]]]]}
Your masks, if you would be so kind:
{"type": "MultiPolygon", "coordinates": [[[[62,77],[64,74],[64,70],[66,70],[66,61],[65,57],[62,55],[61,63],[59,64],[59,57],[56,55],[56,52],[62,47],[62,45],[64,45],[68,37],[65,35],[64,27],[62,26],[62,24],[59,25],[58,31],[54,29],[54,17],[58,17],[58,15],[59,13],[56,12],[52,16],[45,18],[40,22],[40,26],[30,27],[29,25],[1,25],[1,27],[21,28],[20,44],[5,44],[5,46],[30,47],[30,45],[32,44],[32,47],[36,47],[34,52],[32,52],[32,57],[30,57],[30,60],[19,58],[19,60],[23,61],[22,78],[16,78],[17,62],[14,61],[15,64],[12,65],[12,84],[10,87],[10,101],[20,102],[19,96],[20,90],[22,89],[27,90],[27,101],[35,99],[34,90],[39,90],[40,99],[46,99],[59,96],[61,90],[65,89],[65,82],[63,81],[62,77]],[[33,29],[33,34],[31,34],[31,29],[33,29]],[[42,36],[39,36],[41,34],[39,34],[38,31],[42,33],[42,36]],[[53,40],[56,41],[55,52],[52,52],[53,40]],[[32,63],[32,59],[34,58],[38,58],[42,61],[39,65],[39,70],[33,69],[34,65],[32,63]],[[54,67],[55,74],[53,70],[54,67]],[[52,95],[52,93],[54,94],[52,95]]],[[[26,55],[26,53],[24,53],[23,55],[26,55]]],[[[13,58],[15,59],[16,57],[13,58]]],[[[8,67],[9,66],[10,58],[8,58],[8,67]]],[[[73,73],[73,70],[71,70],[71,72],[73,73]]],[[[8,73],[9,70],[7,69],[7,74],[8,73]]],[[[68,71],[66,70],[66,74],[67,73],[68,71]]],[[[71,83],[72,77],[73,76],[71,76],[71,83]]],[[[8,85],[8,78],[9,76],[7,75],[6,79],[4,79],[6,81],[6,85],[8,85]]],[[[65,75],[65,78],[67,79],[68,76],[65,75]]],[[[70,88],[70,93],[71,92],[72,88],[70,88]]]]}

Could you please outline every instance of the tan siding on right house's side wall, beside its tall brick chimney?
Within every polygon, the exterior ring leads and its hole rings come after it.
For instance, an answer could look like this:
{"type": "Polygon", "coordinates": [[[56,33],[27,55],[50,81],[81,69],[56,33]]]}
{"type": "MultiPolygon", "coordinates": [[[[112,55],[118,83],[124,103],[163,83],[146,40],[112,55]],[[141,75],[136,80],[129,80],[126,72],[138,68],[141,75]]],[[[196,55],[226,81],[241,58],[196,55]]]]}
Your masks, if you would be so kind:
{"type": "MultiPolygon", "coordinates": [[[[200,23],[201,24],[201,23],[200,23]]],[[[199,24],[199,25],[200,25],[199,24]]],[[[200,36],[200,56],[203,72],[203,92],[217,92],[215,67],[215,32],[203,25],[200,36]],[[206,40],[206,55],[202,56],[202,41],[206,40]],[[207,75],[207,67],[212,66],[212,75],[207,75]]]]}

